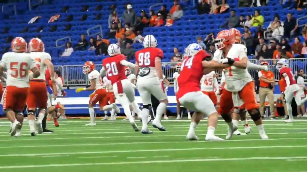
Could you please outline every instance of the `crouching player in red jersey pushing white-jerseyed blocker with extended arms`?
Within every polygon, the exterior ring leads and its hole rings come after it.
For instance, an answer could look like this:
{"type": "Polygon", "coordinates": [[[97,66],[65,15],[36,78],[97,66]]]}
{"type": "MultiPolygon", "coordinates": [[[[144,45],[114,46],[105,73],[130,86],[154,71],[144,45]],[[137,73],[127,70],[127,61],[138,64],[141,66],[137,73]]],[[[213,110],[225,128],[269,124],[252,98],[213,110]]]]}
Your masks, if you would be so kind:
{"type": "Polygon", "coordinates": [[[208,115],[208,132],[205,140],[224,140],[214,135],[218,123],[218,113],[208,95],[200,91],[200,80],[204,75],[204,71],[207,74],[208,70],[213,71],[230,67],[234,60],[229,59],[228,64],[208,62],[210,55],[202,50],[197,43],[192,43],[187,47],[187,55],[188,58],[182,62],[181,74],[178,77],[179,91],[177,93],[177,100],[179,100],[180,104],[195,111],[195,114],[192,116],[187,139],[199,139],[195,135],[195,128],[203,118],[203,115],[206,114],[208,115]]]}

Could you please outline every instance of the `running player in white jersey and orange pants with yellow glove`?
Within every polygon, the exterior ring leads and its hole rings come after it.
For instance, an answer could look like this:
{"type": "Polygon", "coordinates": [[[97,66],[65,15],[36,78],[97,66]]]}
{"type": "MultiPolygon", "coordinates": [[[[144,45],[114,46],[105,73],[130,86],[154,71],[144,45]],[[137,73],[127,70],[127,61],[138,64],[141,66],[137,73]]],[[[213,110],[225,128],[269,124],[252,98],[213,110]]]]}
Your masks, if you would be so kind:
{"type": "Polygon", "coordinates": [[[115,103],[108,105],[109,99],[107,97],[107,91],[103,86],[100,73],[95,70],[95,64],[93,62],[85,62],[83,66],[83,73],[88,74],[88,80],[91,82],[91,86],[88,88],[77,88],[76,92],[81,91],[92,91],[94,92],[90,95],[90,100],[88,104],[88,110],[90,114],[91,121],[86,126],[95,126],[95,110],[94,106],[99,102],[99,109],[102,110],[111,110],[115,108],[119,111],[119,107],[115,103]]]}

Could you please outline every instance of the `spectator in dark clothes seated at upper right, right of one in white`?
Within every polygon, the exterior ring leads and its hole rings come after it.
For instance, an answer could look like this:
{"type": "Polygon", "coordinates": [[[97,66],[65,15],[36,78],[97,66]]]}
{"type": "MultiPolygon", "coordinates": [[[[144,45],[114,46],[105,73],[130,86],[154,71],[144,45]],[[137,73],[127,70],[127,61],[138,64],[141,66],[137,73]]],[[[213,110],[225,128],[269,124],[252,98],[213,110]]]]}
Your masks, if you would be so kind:
{"type": "Polygon", "coordinates": [[[292,16],[292,14],[287,14],[287,20],[284,22],[285,34],[286,38],[297,36],[298,25],[296,23],[296,19],[292,16]]]}

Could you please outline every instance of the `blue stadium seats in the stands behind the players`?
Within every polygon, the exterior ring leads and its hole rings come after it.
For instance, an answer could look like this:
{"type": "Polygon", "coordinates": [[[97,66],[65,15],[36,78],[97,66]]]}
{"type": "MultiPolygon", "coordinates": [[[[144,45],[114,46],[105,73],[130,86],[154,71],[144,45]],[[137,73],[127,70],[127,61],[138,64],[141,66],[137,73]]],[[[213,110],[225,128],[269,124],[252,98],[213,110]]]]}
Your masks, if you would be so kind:
{"type": "MultiPolygon", "coordinates": [[[[149,7],[153,6],[157,3],[163,3],[168,6],[168,9],[173,6],[173,0],[116,0],[116,1],[107,1],[107,2],[97,2],[97,0],[54,0],[51,5],[41,5],[36,9],[29,11],[28,9],[24,9],[25,12],[18,15],[10,15],[9,19],[2,20],[0,22],[0,30],[3,28],[9,27],[10,31],[8,34],[0,33],[0,55],[3,53],[3,48],[10,47],[10,43],[5,43],[7,36],[22,36],[27,41],[33,37],[41,37],[41,39],[45,43],[46,52],[50,53],[55,65],[77,65],[83,64],[85,61],[94,61],[98,64],[101,63],[101,60],[105,57],[102,55],[95,56],[94,51],[75,51],[71,57],[59,57],[60,53],[64,51],[64,47],[56,48],[56,40],[70,36],[72,39],[72,44],[76,44],[80,39],[81,34],[86,34],[87,29],[102,25],[103,35],[105,36],[108,32],[108,16],[110,14],[110,6],[112,4],[117,5],[117,13],[119,17],[121,17],[124,9],[125,3],[132,3],[132,6],[137,13],[140,15],[141,10],[145,10],[149,12],[149,7]],[[103,8],[101,11],[95,11],[95,6],[98,4],[102,4],[103,8]],[[87,12],[81,12],[81,8],[84,5],[88,5],[89,9],[87,12]],[[64,6],[69,6],[69,10],[67,13],[62,13],[62,8],[64,6]],[[101,20],[95,20],[95,15],[97,13],[102,14],[101,20]],[[48,23],[48,20],[51,16],[55,14],[60,14],[60,18],[58,21],[54,23],[48,23]],[[73,21],[66,22],[65,19],[68,15],[73,15],[73,21]],[[86,21],[80,21],[81,16],[83,14],[87,14],[86,21]],[[28,24],[32,17],[42,16],[42,19],[38,20],[37,23],[28,24]],[[64,31],[64,25],[71,24],[72,29],[70,31],[64,31]],[[55,32],[50,32],[50,27],[53,25],[57,25],[58,28],[55,32]],[[39,27],[43,26],[42,32],[36,32],[35,30],[39,27]],[[28,32],[21,33],[21,31],[25,28],[29,27],[28,32]]],[[[272,0],[268,3],[268,6],[257,7],[257,8],[238,8],[237,0],[229,0],[228,4],[230,5],[230,9],[235,9],[237,11],[237,15],[248,15],[253,14],[256,9],[260,10],[262,15],[265,17],[264,28],[266,28],[270,21],[273,20],[274,14],[279,14],[282,21],[286,20],[286,14],[291,12],[294,14],[294,17],[299,18],[307,15],[307,10],[298,11],[296,9],[282,9],[282,6],[279,4],[279,0],[272,0]]],[[[181,2],[181,5],[184,9],[184,16],[179,20],[175,21],[173,26],[171,27],[148,27],[144,29],[143,35],[153,34],[158,40],[158,46],[164,51],[165,59],[164,62],[169,62],[169,59],[173,54],[173,47],[178,47],[180,52],[184,51],[184,47],[186,47],[189,43],[193,43],[196,41],[196,36],[206,36],[208,33],[217,33],[220,31],[220,25],[229,17],[229,13],[226,14],[204,14],[198,15],[195,7],[192,5],[191,1],[181,2]]],[[[25,3],[21,3],[17,5],[17,7],[25,6],[25,3]]],[[[159,10],[161,5],[154,7],[154,10],[159,10]]],[[[19,8],[17,8],[18,10],[19,8]]],[[[303,23],[307,23],[307,21],[300,21],[303,23]]],[[[256,28],[252,28],[255,30],[256,28]]],[[[240,28],[243,31],[243,28],[240,28]]],[[[89,39],[87,37],[87,39],[89,39]]],[[[116,43],[116,39],[110,39],[111,43],[116,43]]],[[[64,44],[64,42],[61,42],[64,44]]],[[[136,50],[142,48],[140,43],[136,43],[133,45],[136,50]]],[[[2,56],[2,55],[1,55],[2,56]]]]}

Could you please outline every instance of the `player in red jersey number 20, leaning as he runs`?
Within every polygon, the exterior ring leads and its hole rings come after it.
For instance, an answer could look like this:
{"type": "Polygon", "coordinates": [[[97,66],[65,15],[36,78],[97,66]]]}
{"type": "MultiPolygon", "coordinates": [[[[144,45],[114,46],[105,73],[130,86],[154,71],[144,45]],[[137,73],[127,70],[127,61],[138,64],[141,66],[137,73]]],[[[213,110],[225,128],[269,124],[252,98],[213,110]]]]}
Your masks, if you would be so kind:
{"type": "MultiPolygon", "coordinates": [[[[135,68],[136,65],[126,61],[123,54],[120,53],[118,45],[112,43],[108,47],[108,54],[110,57],[103,59],[103,68],[100,70],[100,75],[104,76],[106,73],[107,79],[111,81],[113,86],[113,92],[116,99],[122,105],[124,113],[126,114],[130,124],[134,131],[140,131],[138,126],[135,124],[132,117],[129,104],[131,103],[133,109],[138,115],[142,116],[142,111],[139,109],[138,104],[135,102],[134,88],[131,82],[125,75],[125,67],[135,68]]],[[[142,131],[142,133],[151,133],[149,130],[142,131]]]]}

